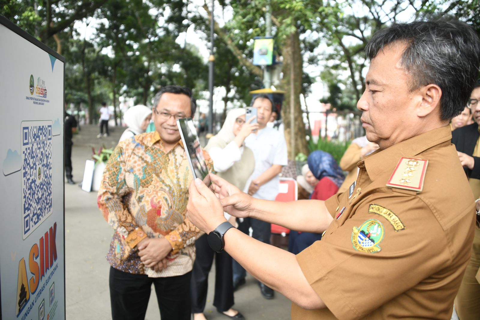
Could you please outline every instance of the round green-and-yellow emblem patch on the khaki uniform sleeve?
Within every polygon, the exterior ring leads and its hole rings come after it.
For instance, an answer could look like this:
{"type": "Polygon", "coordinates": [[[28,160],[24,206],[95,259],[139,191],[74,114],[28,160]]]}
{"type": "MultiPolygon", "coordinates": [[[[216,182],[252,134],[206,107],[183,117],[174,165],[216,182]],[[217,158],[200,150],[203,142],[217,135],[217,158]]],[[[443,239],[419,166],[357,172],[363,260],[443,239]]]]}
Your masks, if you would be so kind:
{"type": "Polygon", "coordinates": [[[352,245],[357,251],[376,253],[381,250],[378,246],[384,238],[384,226],[382,222],[370,219],[357,229],[353,227],[352,245]]]}

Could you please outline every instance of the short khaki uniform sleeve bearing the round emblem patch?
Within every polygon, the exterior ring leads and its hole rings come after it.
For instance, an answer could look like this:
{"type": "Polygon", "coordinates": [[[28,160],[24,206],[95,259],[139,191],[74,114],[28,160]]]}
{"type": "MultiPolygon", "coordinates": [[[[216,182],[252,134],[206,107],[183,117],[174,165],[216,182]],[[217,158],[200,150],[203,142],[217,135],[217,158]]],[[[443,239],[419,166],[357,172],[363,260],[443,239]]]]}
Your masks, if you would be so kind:
{"type": "Polygon", "coordinates": [[[392,195],[361,202],[343,225],[334,220],[322,241],[297,255],[338,319],[365,317],[451,261],[447,237],[428,206],[419,197],[385,194],[392,195]]]}

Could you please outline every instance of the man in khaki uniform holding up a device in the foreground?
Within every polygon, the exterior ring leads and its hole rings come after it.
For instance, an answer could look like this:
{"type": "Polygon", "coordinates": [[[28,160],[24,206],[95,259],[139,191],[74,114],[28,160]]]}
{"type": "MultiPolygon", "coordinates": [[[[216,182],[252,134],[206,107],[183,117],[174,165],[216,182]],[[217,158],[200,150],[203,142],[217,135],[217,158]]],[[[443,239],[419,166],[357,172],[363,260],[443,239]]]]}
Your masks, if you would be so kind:
{"type": "Polygon", "coordinates": [[[375,33],[357,108],[380,149],[358,163],[348,191],[277,203],[211,175],[215,194],[190,185],[190,221],[212,248],[292,300],[294,320],[450,319],[475,211],[448,123],[467,103],[479,52],[478,36],[458,21],[375,33]],[[224,209],[324,236],[294,256],[227,226],[224,209]]]}

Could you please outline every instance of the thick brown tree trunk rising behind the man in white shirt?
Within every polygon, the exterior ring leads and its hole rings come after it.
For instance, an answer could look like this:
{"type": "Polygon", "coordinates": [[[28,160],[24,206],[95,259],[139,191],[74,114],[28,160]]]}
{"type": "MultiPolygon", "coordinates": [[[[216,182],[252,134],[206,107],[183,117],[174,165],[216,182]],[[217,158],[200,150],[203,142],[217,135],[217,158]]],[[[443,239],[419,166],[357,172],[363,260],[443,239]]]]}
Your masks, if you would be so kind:
{"type": "Polygon", "coordinates": [[[285,38],[282,44],[283,52],[283,79],[281,83],[282,90],[286,91],[285,98],[282,106],[282,119],[285,126],[285,140],[287,141],[288,158],[291,159],[291,155],[297,155],[299,152],[308,154],[307,139],[305,133],[305,123],[303,123],[303,115],[300,105],[300,93],[302,88],[302,57],[300,51],[300,38],[298,31],[291,36],[285,38]],[[293,63],[293,68],[292,64],[293,63]],[[293,70],[293,73],[292,71],[293,70]],[[293,77],[293,79],[291,78],[293,77]],[[293,80],[293,117],[290,112],[290,100],[291,100],[291,86],[290,83],[293,80]],[[295,119],[293,123],[294,132],[294,147],[292,152],[291,146],[291,132],[292,123],[291,118],[295,119]]]}

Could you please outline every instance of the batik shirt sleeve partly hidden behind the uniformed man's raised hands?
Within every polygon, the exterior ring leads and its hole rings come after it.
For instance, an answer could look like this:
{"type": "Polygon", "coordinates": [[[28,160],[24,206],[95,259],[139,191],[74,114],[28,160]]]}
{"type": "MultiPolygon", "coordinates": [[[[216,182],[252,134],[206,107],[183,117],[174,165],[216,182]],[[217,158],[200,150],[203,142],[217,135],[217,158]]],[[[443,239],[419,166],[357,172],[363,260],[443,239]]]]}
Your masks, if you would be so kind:
{"type": "MultiPolygon", "coordinates": [[[[210,155],[205,150],[204,152],[204,159],[205,164],[207,165],[208,171],[212,172],[213,169],[213,162],[210,155]]],[[[187,197],[186,201],[188,201],[188,193],[185,195],[187,197]]],[[[168,240],[170,246],[172,246],[173,251],[172,254],[178,253],[182,248],[192,244],[196,239],[198,239],[203,232],[200,231],[188,218],[186,217],[187,214],[187,206],[185,205],[185,211],[183,212],[183,222],[178,225],[175,230],[172,230],[169,234],[165,236],[165,239],[168,240]]]]}

